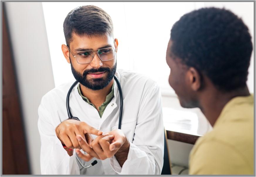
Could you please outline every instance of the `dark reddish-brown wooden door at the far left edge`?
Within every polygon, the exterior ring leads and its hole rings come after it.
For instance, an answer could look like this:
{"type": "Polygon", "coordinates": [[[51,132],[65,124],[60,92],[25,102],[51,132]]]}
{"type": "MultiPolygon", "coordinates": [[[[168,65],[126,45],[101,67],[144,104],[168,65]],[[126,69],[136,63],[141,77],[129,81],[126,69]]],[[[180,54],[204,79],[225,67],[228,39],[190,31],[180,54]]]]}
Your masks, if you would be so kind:
{"type": "Polygon", "coordinates": [[[30,174],[6,13],[2,11],[2,174],[30,174]]]}

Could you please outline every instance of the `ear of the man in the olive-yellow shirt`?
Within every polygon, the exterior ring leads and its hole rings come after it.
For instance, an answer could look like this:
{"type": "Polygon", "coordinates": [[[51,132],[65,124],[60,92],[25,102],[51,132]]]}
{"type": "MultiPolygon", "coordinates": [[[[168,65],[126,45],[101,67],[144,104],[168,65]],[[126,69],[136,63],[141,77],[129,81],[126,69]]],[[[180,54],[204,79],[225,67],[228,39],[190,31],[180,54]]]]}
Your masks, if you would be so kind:
{"type": "Polygon", "coordinates": [[[187,71],[187,77],[189,80],[189,85],[193,91],[198,91],[201,86],[201,75],[194,67],[190,67],[187,71]]]}

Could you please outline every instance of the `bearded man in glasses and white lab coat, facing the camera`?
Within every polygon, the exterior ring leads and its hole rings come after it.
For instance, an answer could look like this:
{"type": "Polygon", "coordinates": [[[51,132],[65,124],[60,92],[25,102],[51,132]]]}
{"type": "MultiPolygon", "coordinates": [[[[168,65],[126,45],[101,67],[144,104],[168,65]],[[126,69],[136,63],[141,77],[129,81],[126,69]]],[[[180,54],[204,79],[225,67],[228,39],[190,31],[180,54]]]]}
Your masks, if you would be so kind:
{"type": "MultiPolygon", "coordinates": [[[[78,81],[69,107],[80,121],[67,116],[72,83],[43,96],[38,108],[42,174],[161,174],[164,129],[157,84],[140,74],[116,71],[118,40],[110,16],[101,8],[75,8],[63,28],[67,45],[62,44],[62,51],[78,81]],[[114,75],[123,92],[121,130],[114,75]],[[84,166],[98,163],[84,169],[78,160],[84,166]]],[[[129,55],[133,50],[138,49],[131,46],[129,55]]]]}

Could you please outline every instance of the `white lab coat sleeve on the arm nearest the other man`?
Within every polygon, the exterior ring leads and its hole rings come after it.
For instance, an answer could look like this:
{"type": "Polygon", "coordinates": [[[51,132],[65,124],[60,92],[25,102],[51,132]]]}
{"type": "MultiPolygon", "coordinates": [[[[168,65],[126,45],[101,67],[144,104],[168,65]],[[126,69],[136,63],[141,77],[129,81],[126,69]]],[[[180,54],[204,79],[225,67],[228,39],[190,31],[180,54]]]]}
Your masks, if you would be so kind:
{"type": "Polygon", "coordinates": [[[160,175],[163,167],[164,126],[159,87],[154,84],[142,96],[133,142],[121,167],[115,156],[110,164],[118,174],[160,175]]]}

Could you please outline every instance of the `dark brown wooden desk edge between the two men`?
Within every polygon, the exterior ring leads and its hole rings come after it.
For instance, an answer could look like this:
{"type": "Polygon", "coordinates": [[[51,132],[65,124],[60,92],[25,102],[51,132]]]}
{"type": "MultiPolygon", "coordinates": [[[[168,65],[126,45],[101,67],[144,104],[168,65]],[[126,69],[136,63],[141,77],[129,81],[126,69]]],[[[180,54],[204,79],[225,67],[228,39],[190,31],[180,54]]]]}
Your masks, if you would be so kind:
{"type": "Polygon", "coordinates": [[[196,140],[200,137],[197,135],[189,135],[186,133],[179,133],[174,132],[170,130],[166,130],[167,133],[167,139],[168,140],[175,140],[179,142],[185,142],[194,145],[196,143],[196,140]]]}

